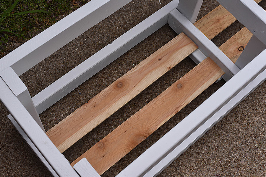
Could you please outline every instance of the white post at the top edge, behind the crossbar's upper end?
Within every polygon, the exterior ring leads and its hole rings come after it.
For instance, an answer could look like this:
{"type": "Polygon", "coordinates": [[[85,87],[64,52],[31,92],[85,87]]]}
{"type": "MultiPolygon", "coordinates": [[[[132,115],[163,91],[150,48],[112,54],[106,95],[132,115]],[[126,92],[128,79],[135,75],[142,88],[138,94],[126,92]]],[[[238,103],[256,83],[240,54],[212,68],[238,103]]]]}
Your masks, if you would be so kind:
{"type": "Polygon", "coordinates": [[[179,10],[191,23],[195,23],[203,0],[179,0],[179,10]]]}

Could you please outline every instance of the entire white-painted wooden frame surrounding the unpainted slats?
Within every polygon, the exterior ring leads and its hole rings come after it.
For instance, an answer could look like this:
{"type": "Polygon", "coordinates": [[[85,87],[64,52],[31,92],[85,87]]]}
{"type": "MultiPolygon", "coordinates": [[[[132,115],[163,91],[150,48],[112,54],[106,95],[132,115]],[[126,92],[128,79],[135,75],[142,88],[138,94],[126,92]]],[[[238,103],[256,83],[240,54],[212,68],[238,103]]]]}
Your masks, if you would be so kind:
{"type": "Polygon", "coordinates": [[[236,19],[218,6],[207,16],[223,12],[227,15],[226,21],[220,24],[222,27],[215,34],[208,36],[210,32],[202,28],[212,23],[210,19],[206,21],[202,18],[193,25],[203,0],[173,0],[33,98],[30,97],[19,78],[21,74],[130,1],[92,0],[0,59],[1,102],[9,110],[8,117],[19,133],[55,177],[96,177],[99,174],[86,158],[72,168],[45,134],[38,115],[167,23],[178,34],[184,32],[198,46],[190,55],[197,64],[204,64],[202,61],[206,62],[205,58],[210,57],[222,69],[221,77],[228,82],[121,171],[118,177],[157,176],[265,81],[266,12],[257,5],[260,0],[255,0],[257,3],[253,0],[218,0],[253,34],[244,53],[237,54],[236,64],[226,55],[226,49],[218,49],[210,41],[236,19]]]}

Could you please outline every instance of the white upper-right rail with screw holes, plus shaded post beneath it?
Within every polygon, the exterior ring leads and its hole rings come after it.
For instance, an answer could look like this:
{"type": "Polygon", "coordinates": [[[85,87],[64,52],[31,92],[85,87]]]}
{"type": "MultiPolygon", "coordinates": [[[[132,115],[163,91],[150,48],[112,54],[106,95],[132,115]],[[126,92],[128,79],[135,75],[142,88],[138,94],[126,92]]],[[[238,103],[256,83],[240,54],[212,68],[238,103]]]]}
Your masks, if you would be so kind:
{"type": "Polygon", "coordinates": [[[242,69],[266,47],[266,11],[253,0],[217,1],[253,33],[253,37],[236,61],[236,65],[242,69]]]}

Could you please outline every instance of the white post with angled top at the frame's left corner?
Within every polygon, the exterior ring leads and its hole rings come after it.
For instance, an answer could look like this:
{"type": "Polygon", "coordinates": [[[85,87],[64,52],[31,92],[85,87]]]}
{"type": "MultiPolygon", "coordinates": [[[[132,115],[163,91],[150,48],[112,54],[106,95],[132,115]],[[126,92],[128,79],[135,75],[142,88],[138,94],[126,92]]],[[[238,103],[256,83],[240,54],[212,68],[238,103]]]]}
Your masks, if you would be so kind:
{"type": "Polygon", "coordinates": [[[0,72],[0,76],[8,85],[10,90],[14,93],[14,95],[18,98],[18,100],[20,100],[22,105],[27,109],[30,115],[34,118],[34,120],[38,123],[40,128],[42,128],[45,132],[43,124],[31,99],[30,93],[26,85],[22,82],[22,80],[20,80],[14,70],[11,67],[7,67],[5,70],[0,72]]]}

